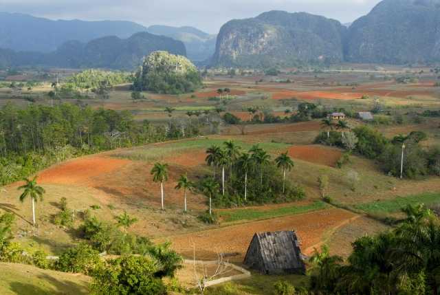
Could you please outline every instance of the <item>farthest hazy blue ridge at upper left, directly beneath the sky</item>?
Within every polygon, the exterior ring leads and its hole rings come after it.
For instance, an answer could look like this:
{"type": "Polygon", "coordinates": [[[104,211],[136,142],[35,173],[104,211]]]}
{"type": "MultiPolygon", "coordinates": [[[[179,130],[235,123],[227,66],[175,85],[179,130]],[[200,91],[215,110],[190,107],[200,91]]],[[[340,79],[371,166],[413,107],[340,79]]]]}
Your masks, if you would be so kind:
{"type": "Polygon", "coordinates": [[[53,52],[69,40],[87,43],[102,36],[128,38],[137,32],[146,28],[131,21],[52,21],[0,12],[0,48],[18,52],[53,52]]]}

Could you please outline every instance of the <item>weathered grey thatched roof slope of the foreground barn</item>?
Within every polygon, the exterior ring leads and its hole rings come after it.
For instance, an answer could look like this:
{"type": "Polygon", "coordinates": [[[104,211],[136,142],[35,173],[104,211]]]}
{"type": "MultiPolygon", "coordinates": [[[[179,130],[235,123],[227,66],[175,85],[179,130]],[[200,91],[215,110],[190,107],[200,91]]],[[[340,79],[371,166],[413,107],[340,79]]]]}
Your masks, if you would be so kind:
{"type": "Polygon", "coordinates": [[[257,233],[252,241],[256,240],[265,270],[304,270],[300,245],[294,231],[257,233]]]}

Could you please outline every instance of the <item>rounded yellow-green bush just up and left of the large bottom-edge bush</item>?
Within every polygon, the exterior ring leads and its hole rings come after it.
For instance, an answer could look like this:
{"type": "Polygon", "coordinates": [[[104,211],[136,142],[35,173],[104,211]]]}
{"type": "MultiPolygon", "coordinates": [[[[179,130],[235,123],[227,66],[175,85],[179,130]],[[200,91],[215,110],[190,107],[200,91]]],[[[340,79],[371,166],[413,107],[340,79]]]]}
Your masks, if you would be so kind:
{"type": "Polygon", "coordinates": [[[61,272],[74,272],[94,274],[102,264],[98,251],[90,245],[81,243],[75,248],[70,248],[60,255],[55,263],[56,270],[61,272]]]}

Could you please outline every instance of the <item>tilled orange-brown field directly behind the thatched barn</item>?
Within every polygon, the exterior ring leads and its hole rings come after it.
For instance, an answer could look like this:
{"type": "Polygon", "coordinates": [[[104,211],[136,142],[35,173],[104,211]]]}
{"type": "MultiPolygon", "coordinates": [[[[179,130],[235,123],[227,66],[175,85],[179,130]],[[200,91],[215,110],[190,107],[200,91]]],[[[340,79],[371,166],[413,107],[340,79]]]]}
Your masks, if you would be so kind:
{"type": "Polygon", "coordinates": [[[308,251],[304,251],[305,254],[309,254],[313,246],[319,245],[329,230],[347,223],[347,220],[356,216],[352,212],[332,208],[270,221],[254,221],[238,226],[182,234],[169,239],[173,243],[172,247],[184,256],[192,256],[194,246],[197,259],[217,259],[217,252],[234,253],[236,256],[231,257],[230,261],[241,263],[256,232],[296,230],[301,248],[308,251]]]}

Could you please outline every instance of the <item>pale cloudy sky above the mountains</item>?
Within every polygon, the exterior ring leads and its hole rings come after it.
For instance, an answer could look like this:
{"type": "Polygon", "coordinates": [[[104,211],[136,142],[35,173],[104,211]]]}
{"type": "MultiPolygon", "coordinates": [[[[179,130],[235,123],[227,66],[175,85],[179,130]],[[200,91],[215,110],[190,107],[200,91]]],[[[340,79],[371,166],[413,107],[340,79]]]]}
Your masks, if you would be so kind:
{"type": "Polygon", "coordinates": [[[380,0],[0,0],[0,11],[48,19],[122,20],[142,25],[190,25],[217,33],[231,19],[269,10],[309,12],[341,23],[367,14],[380,0]]]}

